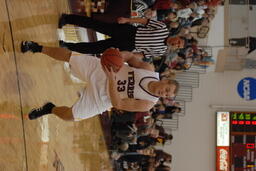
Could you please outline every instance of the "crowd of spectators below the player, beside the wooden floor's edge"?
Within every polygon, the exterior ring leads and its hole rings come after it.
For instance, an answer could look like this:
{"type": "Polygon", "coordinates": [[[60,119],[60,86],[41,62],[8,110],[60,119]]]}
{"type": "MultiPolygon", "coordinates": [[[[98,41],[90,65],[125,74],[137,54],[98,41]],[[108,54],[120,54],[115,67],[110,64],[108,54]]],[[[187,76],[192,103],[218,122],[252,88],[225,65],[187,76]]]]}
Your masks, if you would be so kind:
{"type": "Polygon", "coordinates": [[[179,103],[167,106],[163,99],[149,112],[126,112],[113,109],[112,158],[117,170],[170,170],[172,156],[156,145],[173,139],[166,132],[160,119],[172,119],[181,111],[179,103]]]}

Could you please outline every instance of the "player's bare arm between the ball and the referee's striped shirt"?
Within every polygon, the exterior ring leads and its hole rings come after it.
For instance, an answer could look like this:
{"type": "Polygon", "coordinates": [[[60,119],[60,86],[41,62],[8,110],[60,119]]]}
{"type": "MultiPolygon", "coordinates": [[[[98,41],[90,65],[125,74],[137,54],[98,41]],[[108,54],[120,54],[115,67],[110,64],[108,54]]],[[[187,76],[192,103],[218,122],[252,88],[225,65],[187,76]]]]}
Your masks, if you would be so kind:
{"type": "Polygon", "coordinates": [[[144,57],[142,53],[133,53],[133,52],[128,52],[128,51],[122,51],[120,53],[124,59],[124,62],[127,62],[130,66],[132,66],[134,68],[141,68],[141,69],[146,69],[146,70],[150,70],[150,71],[155,70],[155,67],[153,64],[144,62],[142,60],[144,57]]]}

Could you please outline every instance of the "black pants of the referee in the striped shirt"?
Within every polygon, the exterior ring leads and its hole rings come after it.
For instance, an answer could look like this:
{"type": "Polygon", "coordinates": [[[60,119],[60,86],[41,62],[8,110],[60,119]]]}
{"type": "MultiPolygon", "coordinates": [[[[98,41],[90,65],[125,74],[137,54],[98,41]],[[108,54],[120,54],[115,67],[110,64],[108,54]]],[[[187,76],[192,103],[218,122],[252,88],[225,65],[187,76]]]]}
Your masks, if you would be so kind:
{"type": "Polygon", "coordinates": [[[130,24],[105,23],[89,17],[79,15],[66,15],[65,24],[73,24],[84,28],[93,29],[111,38],[97,42],[64,43],[68,49],[79,53],[98,54],[110,47],[119,48],[121,51],[135,49],[135,34],[137,28],[130,24]]]}

